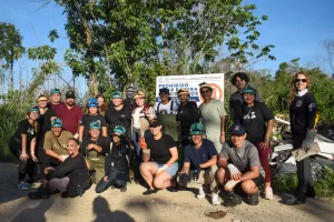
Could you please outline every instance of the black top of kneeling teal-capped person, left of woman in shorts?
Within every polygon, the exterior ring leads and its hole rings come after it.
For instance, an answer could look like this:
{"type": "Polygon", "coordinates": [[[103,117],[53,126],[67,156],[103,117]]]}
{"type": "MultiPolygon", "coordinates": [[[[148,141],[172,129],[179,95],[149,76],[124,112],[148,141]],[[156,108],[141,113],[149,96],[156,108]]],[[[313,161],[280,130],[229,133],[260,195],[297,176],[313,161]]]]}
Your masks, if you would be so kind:
{"type": "Polygon", "coordinates": [[[116,169],[119,171],[127,171],[129,169],[129,147],[126,142],[116,145],[112,143],[111,151],[110,148],[106,152],[106,175],[109,175],[110,169],[116,169]]]}

